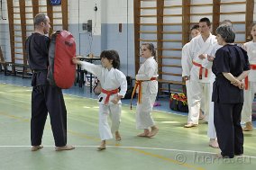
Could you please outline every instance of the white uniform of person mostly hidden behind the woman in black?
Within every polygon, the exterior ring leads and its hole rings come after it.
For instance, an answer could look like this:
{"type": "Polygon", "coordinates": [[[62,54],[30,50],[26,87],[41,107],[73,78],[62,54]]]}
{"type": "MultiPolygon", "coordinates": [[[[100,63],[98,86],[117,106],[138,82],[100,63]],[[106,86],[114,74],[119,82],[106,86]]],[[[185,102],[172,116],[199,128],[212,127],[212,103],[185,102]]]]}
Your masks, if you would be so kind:
{"type": "MultiPolygon", "coordinates": [[[[214,48],[212,49],[212,51],[210,53],[208,53],[208,55],[215,57],[215,53],[217,51],[217,49],[220,49],[222,46],[218,45],[217,43],[215,44],[214,48]]],[[[203,67],[206,68],[212,68],[213,66],[213,62],[208,61],[207,59],[205,59],[202,63],[203,67]]],[[[212,94],[213,94],[213,85],[215,82],[215,74],[212,74],[209,77],[209,96],[210,96],[210,100],[209,102],[209,116],[208,116],[208,130],[207,130],[207,136],[209,137],[209,139],[216,139],[216,130],[215,130],[215,114],[214,114],[214,105],[215,103],[212,102],[212,94]]]]}

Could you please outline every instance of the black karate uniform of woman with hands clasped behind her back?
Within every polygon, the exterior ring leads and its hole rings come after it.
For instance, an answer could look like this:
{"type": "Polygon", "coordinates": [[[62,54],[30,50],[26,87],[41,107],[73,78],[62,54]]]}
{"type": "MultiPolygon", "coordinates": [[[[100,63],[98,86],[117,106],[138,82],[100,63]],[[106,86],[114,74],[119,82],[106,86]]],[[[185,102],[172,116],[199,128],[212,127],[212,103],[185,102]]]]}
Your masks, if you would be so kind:
{"type": "Polygon", "coordinates": [[[212,95],[216,135],[222,156],[232,158],[243,154],[243,90],[232,85],[223,72],[239,76],[250,70],[246,51],[237,45],[224,45],[216,51],[212,70],[216,76],[212,95]]]}

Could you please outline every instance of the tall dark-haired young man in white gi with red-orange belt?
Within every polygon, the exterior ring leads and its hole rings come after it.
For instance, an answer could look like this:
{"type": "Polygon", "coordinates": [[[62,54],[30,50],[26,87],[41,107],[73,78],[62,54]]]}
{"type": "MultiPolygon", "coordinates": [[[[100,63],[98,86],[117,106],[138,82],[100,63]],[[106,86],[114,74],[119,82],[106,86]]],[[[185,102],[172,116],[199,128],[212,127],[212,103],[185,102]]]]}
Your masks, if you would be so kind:
{"type": "Polygon", "coordinates": [[[211,22],[208,18],[202,18],[199,21],[199,30],[201,35],[198,35],[192,39],[189,43],[188,58],[193,58],[193,66],[190,70],[189,79],[189,91],[190,99],[188,99],[190,105],[188,105],[188,118],[185,128],[196,127],[198,125],[199,110],[204,96],[205,107],[202,108],[205,111],[205,120],[208,120],[209,112],[209,77],[212,75],[211,69],[206,69],[202,66],[203,60],[206,59],[206,54],[211,53],[213,47],[216,44],[215,35],[210,32],[211,22]]]}

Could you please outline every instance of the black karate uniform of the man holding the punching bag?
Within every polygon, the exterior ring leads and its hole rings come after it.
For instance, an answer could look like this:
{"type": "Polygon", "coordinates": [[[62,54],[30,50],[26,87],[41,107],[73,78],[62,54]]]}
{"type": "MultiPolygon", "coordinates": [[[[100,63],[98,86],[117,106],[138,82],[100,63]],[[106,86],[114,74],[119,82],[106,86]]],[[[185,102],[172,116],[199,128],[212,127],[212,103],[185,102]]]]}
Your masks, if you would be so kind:
{"type": "Polygon", "coordinates": [[[50,39],[40,33],[32,33],[26,40],[26,52],[32,68],[32,146],[41,145],[41,138],[47,114],[50,114],[50,125],[56,147],[67,144],[67,110],[62,91],[47,81],[49,66],[48,50],[50,39]]]}

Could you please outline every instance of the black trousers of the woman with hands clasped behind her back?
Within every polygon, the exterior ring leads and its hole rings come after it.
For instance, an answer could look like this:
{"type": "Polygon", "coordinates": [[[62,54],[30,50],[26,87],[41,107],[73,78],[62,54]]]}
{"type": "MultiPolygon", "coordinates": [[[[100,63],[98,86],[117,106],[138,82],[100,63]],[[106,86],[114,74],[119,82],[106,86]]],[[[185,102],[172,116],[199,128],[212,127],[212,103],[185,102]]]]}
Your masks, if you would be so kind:
{"type": "Polygon", "coordinates": [[[223,157],[243,154],[243,103],[215,103],[215,130],[223,157]]]}

